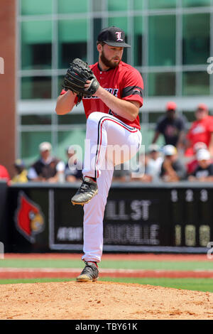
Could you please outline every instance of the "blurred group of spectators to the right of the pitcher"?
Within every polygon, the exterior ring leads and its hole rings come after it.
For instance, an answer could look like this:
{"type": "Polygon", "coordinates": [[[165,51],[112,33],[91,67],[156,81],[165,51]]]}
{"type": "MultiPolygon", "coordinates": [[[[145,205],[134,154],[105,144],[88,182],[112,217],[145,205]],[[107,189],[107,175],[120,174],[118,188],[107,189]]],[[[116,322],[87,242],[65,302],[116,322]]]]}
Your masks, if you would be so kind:
{"type": "MultiPolygon", "coordinates": [[[[137,173],[129,176],[129,171],[121,171],[121,181],[213,181],[213,116],[207,106],[197,106],[195,121],[187,129],[187,119],[178,114],[175,102],[168,102],[165,115],[155,126],[152,144],[141,153],[138,162],[137,173]],[[157,144],[160,136],[162,147],[157,144]]],[[[119,181],[118,172],[114,181],[119,181]]]]}

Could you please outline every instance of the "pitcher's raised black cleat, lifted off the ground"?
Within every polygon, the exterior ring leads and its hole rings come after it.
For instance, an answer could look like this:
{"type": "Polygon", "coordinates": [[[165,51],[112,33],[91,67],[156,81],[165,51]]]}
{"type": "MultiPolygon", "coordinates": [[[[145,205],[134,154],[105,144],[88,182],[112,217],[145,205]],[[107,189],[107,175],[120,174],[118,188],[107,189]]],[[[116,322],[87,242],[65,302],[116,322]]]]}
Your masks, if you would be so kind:
{"type": "Polygon", "coordinates": [[[82,185],[79,190],[77,190],[77,193],[72,197],[71,202],[73,205],[84,205],[89,203],[89,200],[92,200],[97,192],[97,182],[93,181],[92,178],[85,176],[83,178],[82,185]]]}

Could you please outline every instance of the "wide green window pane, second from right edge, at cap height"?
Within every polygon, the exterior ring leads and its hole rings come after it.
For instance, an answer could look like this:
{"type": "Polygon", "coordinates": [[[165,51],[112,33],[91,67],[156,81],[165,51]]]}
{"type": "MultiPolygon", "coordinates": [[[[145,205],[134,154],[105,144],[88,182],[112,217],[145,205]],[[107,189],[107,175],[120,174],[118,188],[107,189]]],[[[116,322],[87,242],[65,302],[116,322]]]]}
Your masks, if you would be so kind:
{"type": "Polygon", "coordinates": [[[148,64],[175,65],[175,16],[150,16],[148,29],[148,64]]]}

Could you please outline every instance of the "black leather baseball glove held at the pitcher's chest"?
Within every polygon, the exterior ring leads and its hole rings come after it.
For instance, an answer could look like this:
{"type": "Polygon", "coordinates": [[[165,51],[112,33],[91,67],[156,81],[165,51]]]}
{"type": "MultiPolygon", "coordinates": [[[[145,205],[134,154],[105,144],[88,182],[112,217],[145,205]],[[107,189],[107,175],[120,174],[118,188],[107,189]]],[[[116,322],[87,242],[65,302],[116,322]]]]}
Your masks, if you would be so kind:
{"type": "Polygon", "coordinates": [[[70,63],[70,68],[67,70],[62,87],[65,90],[72,90],[72,92],[77,94],[78,104],[82,97],[89,97],[97,92],[99,82],[89,68],[89,65],[83,60],[75,58],[72,63],[70,63]],[[87,83],[87,80],[91,80],[91,83],[89,87],[85,88],[84,85],[87,83]]]}

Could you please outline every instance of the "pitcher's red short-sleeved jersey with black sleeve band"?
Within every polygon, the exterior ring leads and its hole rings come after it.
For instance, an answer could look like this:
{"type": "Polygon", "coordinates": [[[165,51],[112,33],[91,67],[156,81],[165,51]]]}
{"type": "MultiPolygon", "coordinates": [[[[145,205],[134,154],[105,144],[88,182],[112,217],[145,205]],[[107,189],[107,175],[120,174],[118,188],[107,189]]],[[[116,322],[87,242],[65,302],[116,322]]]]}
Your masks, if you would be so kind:
{"type": "MultiPolygon", "coordinates": [[[[108,92],[118,97],[119,99],[125,99],[126,101],[137,101],[140,107],[143,105],[143,78],[140,72],[124,62],[120,62],[116,68],[110,68],[107,71],[102,71],[99,68],[99,64],[89,65],[94,75],[97,77],[99,84],[108,92]]],[[[65,94],[65,90],[62,90],[60,95],[65,94]]],[[[77,103],[77,98],[75,99],[77,103]]],[[[84,112],[86,117],[92,112],[104,112],[106,114],[112,114],[114,117],[121,119],[125,124],[129,126],[141,129],[139,117],[133,121],[124,119],[113,110],[109,109],[102,99],[99,97],[84,97],[82,99],[84,104],[84,112]]]]}

